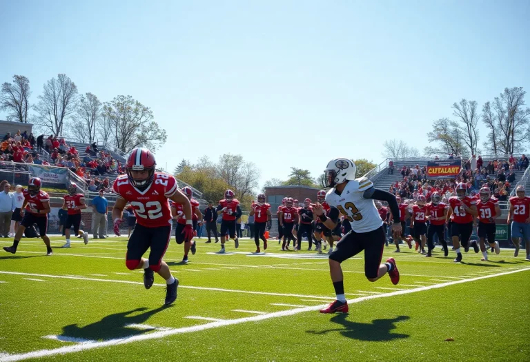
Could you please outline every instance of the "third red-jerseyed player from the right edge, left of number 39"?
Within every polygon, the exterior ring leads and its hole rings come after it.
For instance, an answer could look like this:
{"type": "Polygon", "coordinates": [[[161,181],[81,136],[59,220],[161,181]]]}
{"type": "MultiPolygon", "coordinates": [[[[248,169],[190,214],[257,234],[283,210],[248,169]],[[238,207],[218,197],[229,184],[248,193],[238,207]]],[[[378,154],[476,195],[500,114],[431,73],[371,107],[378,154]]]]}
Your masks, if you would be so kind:
{"type": "MultiPolygon", "coordinates": [[[[446,223],[449,219],[453,219],[451,223],[451,239],[453,239],[453,247],[456,252],[455,263],[462,261],[462,253],[460,252],[460,243],[464,246],[465,252],[469,250],[469,239],[473,233],[473,217],[478,216],[477,201],[467,196],[467,185],[465,183],[458,183],[456,185],[456,195],[449,198],[449,212],[447,213],[446,223]]],[[[475,252],[479,248],[476,241],[471,243],[475,252]]]]}

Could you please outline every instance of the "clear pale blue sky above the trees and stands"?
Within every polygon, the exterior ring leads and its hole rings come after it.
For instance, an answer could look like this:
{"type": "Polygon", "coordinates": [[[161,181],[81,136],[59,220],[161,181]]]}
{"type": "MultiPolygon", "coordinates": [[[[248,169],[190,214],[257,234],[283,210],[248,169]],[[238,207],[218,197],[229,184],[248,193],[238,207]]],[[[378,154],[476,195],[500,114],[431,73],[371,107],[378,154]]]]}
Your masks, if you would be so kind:
{"type": "Polygon", "coordinates": [[[0,81],[25,75],[33,103],[60,72],[101,101],[132,95],[168,132],[169,170],[232,152],[261,183],[317,176],[334,157],[382,161],[385,139],[423,150],[461,98],[530,91],[529,4],[1,1],[0,81]]]}

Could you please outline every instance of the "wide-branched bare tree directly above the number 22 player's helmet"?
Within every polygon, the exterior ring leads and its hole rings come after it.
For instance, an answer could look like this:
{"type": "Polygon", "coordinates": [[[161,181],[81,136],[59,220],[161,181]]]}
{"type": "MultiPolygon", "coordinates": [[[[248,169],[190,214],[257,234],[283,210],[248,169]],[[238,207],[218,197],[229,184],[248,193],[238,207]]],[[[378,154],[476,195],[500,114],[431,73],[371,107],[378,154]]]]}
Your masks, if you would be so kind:
{"type": "Polygon", "coordinates": [[[153,111],[131,96],[117,96],[104,103],[104,113],[112,124],[112,143],[121,152],[138,146],[154,152],[166,142],[166,131],[153,121],[153,111]]]}

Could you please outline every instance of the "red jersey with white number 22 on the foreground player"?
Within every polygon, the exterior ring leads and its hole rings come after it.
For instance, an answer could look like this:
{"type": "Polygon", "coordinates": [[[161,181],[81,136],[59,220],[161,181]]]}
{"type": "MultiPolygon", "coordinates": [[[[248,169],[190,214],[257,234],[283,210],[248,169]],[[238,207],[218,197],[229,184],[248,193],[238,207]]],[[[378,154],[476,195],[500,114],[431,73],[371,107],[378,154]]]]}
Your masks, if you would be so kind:
{"type": "Polygon", "coordinates": [[[175,177],[163,172],[155,172],[153,182],[144,191],[135,188],[126,175],[118,177],[112,186],[117,197],[133,206],[136,222],[146,228],[171,225],[168,198],[172,197],[178,188],[175,177]]]}

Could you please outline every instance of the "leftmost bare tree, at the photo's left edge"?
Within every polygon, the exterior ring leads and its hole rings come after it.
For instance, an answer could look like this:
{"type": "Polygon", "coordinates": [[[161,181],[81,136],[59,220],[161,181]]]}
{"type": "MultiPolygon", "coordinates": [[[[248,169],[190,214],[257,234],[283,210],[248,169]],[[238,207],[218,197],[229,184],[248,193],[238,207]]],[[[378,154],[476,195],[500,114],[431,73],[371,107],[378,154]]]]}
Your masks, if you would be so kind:
{"type": "Polygon", "coordinates": [[[13,83],[3,83],[0,89],[0,109],[8,112],[8,121],[16,119],[28,123],[28,98],[30,97],[30,81],[23,75],[14,75],[13,83]]]}

